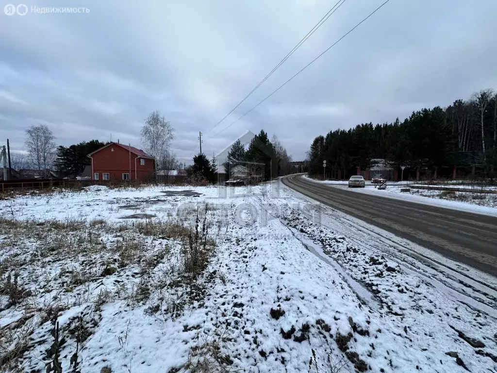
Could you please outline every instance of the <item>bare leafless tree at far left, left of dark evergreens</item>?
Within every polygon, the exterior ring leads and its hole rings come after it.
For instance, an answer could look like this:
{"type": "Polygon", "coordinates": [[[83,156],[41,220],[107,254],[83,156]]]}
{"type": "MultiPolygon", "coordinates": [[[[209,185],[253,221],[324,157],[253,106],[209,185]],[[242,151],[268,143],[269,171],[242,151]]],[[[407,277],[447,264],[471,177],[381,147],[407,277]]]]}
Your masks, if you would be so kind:
{"type": "Polygon", "coordinates": [[[33,165],[38,170],[52,166],[55,157],[55,137],[46,124],[31,126],[26,130],[25,144],[33,165]]]}

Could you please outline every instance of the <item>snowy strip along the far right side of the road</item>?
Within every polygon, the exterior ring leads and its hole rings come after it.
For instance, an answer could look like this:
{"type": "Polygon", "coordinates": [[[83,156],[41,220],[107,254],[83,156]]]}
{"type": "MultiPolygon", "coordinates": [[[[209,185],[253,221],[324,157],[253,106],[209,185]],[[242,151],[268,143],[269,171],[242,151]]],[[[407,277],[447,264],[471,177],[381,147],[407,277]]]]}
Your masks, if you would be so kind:
{"type": "MultiPolygon", "coordinates": [[[[308,178],[315,183],[329,184],[332,187],[347,188],[347,181],[323,181],[308,178]]],[[[472,193],[472,192],[455,192],[444,193],[442,190],[426,190],[426,189],[414,189],[412,188],[410,192],[401,192],[402,187],[409,187],[409,185],[415,185],[414,182],[391,182],[387,183],[387,188],[385,190],[379,190],[371,184],[371,182],[366,182],[366,187],[364,188],[350,188],[351,191],[358,193],[366,193],[372,195],[378,195],[382,197],[394,198],[408,200],[416,203],[428,204],[431,206],[440,206],[445,208],[451,208],[459,211],[474,212],[478,214],[497,216],[497,194],[486,194],[486,193],[472,193]]],[[[471,186],[458,186],[471,188],[471,186]]],[[[485,187],[486,189],[495,187],[485,187]]],[[[447,186],[450,189],[450,186],[447,186]]]]}

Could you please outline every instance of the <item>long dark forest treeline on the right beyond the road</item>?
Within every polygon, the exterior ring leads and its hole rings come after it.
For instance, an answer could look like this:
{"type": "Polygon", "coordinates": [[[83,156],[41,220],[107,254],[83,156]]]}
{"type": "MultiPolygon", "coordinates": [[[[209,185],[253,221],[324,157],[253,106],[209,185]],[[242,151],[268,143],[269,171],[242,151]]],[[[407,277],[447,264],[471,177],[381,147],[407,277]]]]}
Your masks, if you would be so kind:
{"type": "Polygon", "coordinates": [[[497,166],[497,94],[493,90],[458,99],[446,108],[414,111],[393,123],[363,123],[349,130],[330,131],[314,139],[310,172],[351,173],[385,159],[392,167],[429,170],[477,166],[493,173],[497,166]],[[331,170],[330,170],[331,168],[331,170]]]}

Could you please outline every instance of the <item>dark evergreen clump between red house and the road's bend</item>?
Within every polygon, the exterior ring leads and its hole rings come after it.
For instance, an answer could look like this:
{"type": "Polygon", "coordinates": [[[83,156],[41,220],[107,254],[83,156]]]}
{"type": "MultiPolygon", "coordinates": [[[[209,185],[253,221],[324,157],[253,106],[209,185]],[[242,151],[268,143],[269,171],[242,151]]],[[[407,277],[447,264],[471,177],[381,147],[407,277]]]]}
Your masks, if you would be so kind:
{"type": "MultiPolygon", "coordinates": [[[[235,141],[228,151],[227,159],[220,161],[228,178],[236,166],[243,166],[248,176],[256,176],[258,180],[271,180],[277,176],[287,175],[291,171],[291,157],[286,149],[276,135],[269,140],[264,130],[260,130],[252,138],[247,149],[240,140],[235,141]]],[[[209,160],[205,154],[199,153],[193,157],[193,166],[187,169],[188,175],[216,183],[218,172],[216,162],[214,155],[212,160],[209,160]]]]}

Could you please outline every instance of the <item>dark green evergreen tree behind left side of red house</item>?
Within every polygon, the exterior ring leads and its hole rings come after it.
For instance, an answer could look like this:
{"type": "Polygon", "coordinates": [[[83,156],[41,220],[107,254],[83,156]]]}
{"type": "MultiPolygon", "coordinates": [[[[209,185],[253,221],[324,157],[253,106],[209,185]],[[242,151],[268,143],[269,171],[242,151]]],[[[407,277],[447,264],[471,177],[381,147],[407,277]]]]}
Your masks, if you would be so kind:
{"type": "Polygon", "coordinates": [[[82,141],[79,144],[71,146],[59,146],[57,148],[57,157],[54,166],[63,177],[77,177],[79,176],[85,166],[91,164],[91,159],[88,154],[100,149],[105,144],[98,140],[82,141]]]}

